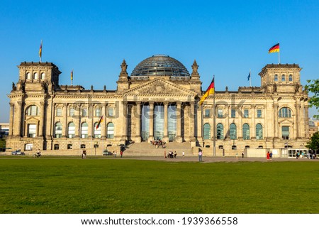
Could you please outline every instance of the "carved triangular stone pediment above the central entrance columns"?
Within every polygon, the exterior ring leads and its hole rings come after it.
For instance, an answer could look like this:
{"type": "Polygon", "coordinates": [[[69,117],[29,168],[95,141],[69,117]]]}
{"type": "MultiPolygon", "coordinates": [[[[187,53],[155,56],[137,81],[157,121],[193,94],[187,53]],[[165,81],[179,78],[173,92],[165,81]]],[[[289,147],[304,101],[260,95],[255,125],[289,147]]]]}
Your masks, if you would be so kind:
{"type": "Polygon", "coordinates": [[[167,95],[191,95],[196,96],[196,92],[185,89],[179,85],[174,84],[173,82],[169,82],[167,80],[155,79],[150,82],[142,83],[137,87],[132,89],[128,89],[123,92],[123,95],[155,95],[155,94],[167,94],[167,95]]]}

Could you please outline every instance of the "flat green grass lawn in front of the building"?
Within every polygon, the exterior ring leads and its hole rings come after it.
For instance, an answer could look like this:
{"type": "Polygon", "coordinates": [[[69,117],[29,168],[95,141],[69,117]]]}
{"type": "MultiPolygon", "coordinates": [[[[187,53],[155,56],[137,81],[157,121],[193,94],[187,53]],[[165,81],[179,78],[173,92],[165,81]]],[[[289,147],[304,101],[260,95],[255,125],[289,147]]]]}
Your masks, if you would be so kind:
{"type": "Polygon", "coordinates": [[[319,165],[1,158],[0,213],[319,213],[319,165]]]}

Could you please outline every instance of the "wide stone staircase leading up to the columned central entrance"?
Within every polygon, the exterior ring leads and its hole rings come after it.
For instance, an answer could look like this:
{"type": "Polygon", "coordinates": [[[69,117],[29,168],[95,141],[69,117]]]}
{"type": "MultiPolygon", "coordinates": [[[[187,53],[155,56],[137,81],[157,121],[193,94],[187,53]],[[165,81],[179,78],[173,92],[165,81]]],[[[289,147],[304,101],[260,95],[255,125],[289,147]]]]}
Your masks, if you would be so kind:
{"type": "Polygon", "coordinates": [[[125,156],[163,156],[164,151],[168,154],[169,151],[176,151],[177,156],[181,156],[182,152],[185,152],[185,156],[194,156],[191,143],[177,143],[170,142],[165,144],[165,148],[152,145],[151,143],[142,142],[142,143],[130,143],[126,145],[124,155],[125,156]]]}

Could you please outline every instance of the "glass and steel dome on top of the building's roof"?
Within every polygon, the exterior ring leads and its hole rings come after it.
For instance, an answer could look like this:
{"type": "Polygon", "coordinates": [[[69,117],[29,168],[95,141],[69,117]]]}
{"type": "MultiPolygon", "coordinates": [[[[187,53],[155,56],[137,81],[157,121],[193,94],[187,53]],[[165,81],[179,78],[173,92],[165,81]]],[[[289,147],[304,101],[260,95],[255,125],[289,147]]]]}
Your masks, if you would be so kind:
{"type": "Polygon", "coordinates": [[[130,76],[173,76],[189,77],[186,67],[168,55],[153,55],[142,60],[130,76]]]}

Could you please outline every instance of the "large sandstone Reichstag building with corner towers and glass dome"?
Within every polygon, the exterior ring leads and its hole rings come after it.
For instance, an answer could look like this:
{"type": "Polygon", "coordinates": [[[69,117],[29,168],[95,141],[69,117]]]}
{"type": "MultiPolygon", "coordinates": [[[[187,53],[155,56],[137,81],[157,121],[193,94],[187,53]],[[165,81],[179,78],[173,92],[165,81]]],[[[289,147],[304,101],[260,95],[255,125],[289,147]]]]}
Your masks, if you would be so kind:
{"type": "Polygon", "coordinates": [[[24,62],[18,69],[9,94],[7,146],[14,149],[69,154],[94,145],[101,155],[161,140],[194,156],[198,148],[207,156],[258,149],[293,156],[308,141],[308,94],[297,64],[266,65],[259,87],[217,88],[201,106],[206,87],[196,60],[189,73],[178,60],[153,55],[130,75],[123,60],[116,90],[60,85],[53,63],[24,62]]]}

